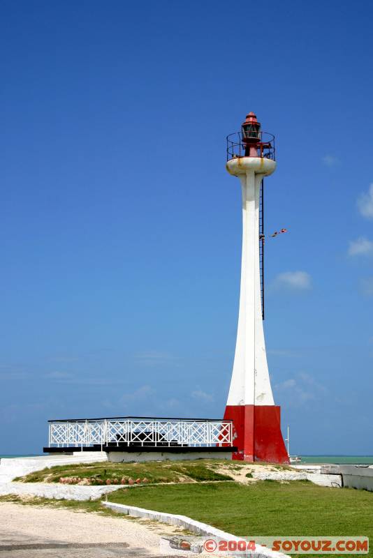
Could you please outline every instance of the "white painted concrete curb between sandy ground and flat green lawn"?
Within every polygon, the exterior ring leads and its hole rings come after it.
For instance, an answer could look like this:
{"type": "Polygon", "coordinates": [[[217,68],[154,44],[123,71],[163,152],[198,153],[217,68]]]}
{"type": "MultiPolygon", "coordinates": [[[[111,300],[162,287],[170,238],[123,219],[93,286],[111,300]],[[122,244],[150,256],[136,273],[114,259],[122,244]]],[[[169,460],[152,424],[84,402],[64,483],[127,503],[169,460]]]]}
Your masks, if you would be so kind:
{"type": "MultiPolygon", "coordinates": [[[[214,536],[223,539],[229,539],[234,541],[240,541],[241,538],[231,533],[226,533],[221,531],[221,529],[216,529],[212,525],[207,525],[207,523],[202,523],[200,521],[188,518],[186,515],[176,515],[174,513],[165,513],[163,511],[153,511],[147,510],[145,508],[137,508],[136,506],[127,506],[126,504],[114,504],[113,502],[102,502],[103,506],[116,511],[117,513],[124,513],[125,515],[133,515],[136,518],[147,518],[154,521],[160,521],[162,523],[167,523],[168,525],[176,525],[177,527],[182,527],[183,529],[188,529],[192,533],[198,535],[214,536]]],[[[242,535],[244,536],[244,535],[242,535]]],[[[265,548],[264,546],[257,545],[257,550],[249,554],[245,553],[245,556],[252,556],[255,558],[284,558],[287,555],[281,552],[275,552],[270,550],[270,548],[265,548]]]]}

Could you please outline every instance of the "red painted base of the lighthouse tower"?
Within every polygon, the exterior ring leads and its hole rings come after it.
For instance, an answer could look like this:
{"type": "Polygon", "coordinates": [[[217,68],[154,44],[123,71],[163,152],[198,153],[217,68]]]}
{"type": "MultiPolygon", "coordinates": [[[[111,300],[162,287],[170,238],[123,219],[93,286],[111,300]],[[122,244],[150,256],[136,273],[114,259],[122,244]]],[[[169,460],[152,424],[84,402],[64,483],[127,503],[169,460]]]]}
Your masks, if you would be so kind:
{"type": "Polygon", "coordinates": [[[227,405],[224,420],[233,421],[233,459],[288,463],[280,427],[279,405],[227,405]]]}

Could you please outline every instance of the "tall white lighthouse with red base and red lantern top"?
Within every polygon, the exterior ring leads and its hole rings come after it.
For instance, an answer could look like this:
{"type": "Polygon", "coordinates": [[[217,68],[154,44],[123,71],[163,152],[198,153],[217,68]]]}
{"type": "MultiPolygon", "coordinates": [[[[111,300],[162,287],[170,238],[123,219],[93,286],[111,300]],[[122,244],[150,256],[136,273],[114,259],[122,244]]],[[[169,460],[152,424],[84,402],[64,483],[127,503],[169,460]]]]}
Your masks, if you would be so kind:
{"type": "Polygon", "coordinates": [[[276,169],[275,137],[261,131],[254,112],[227,137],[229,174],[242,190],[242,264],[235,359],[224,419],[233,421],[233,458],[288,463],[280,407],[270,385],[265,340],[263,184],[276,169]]]}

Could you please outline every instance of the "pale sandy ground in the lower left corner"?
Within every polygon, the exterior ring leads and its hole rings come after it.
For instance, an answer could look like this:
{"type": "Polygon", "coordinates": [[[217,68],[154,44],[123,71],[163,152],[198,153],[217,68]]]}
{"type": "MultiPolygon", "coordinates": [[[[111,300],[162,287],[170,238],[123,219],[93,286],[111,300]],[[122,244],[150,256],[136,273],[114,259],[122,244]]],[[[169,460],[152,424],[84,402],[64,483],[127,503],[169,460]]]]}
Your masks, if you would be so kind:
{"type": "Polygon", "coordinates": [[[0,503],[1,558],[159,557],[160,535],[175,533],[156,522],[0,503]]]}

